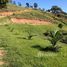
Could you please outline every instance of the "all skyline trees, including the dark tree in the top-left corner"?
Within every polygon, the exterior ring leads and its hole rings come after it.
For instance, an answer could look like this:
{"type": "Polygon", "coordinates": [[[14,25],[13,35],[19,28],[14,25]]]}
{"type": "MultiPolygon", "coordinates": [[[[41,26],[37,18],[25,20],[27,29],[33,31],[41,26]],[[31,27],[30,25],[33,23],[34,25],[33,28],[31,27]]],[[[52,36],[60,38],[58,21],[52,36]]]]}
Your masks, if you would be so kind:
{"type": "MultiPolygon", "coordinates": [[[[0,8],[5,8],[6,4],[9,2],[18,6],[22,6],[21,2],[16,3],[16,1],[13,1],[13,0],[0,0],[0,8]]],[[[58,17],[60,16],[60,14],[67,15],[67,13],[64,12],[59,6],[52,6],[50,9],[45,10],[44,8],[40,8],[38,3],[33,3],[32,5],[30,3],[26,3],[25,8],[32,8],[32,9],[38,9],[41,11],[51,12],[57,15],[58,17]]]]}

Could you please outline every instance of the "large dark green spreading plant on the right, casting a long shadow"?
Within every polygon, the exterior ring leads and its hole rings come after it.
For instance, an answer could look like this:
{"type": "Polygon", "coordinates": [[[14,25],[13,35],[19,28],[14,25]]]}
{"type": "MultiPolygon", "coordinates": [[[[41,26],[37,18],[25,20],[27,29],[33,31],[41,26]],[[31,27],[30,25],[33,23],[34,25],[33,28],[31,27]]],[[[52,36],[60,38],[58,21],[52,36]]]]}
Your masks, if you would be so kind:
{"type": "Polygon", "coordinates": [[[48,32],[45,32],[44,35],[47,37],[47,39],[51,42],[52,44],[52,49],[55,49],[57,50],[57,42],[58,41],[61,41],[63,39],[63,33],[60,30],[57,30],[57,31],[48,31],[48,32]]]}

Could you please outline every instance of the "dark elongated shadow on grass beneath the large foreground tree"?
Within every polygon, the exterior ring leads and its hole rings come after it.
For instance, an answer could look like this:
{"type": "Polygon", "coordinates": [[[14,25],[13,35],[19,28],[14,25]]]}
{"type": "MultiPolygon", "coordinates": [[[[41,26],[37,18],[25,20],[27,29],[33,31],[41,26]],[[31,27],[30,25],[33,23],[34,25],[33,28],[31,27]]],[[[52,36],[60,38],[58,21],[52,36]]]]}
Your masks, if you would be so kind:
{"type": "Polygon", "coordinates": [[[34,46],[32,46],[32,48],[36,48],[36,49],[38,49],[40,51],[44,51],[44,52],[59,52],[60,47],[47,46],[44,48],[39,45],[34,45],[34,46]]]}

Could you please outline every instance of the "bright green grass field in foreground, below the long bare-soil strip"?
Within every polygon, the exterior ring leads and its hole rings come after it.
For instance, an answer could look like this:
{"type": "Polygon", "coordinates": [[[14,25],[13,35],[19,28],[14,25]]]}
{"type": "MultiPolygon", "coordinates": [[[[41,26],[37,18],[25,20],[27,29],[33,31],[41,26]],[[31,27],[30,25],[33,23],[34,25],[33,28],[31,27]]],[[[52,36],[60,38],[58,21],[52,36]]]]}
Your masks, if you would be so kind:
{"type": "MultiPolygon", "coordinates": [[[[64,26],[63,29],[66,29],[64,26]]],[[[50,46],[42,33],[46,30],[56,30],[57,25],[22,25],[10,24],[0,26],[0,44],[7,51],[4,60],[7,64],[4,67],[67,67],[67,45],[58,42],[57,45],[62,48],[59,52],[41,51],[40,48],[50,46]],[[27,37],[28,32],[36,34],[32,40],[23,39],[27,37]],[[3,40],[4,39],[4,40],[3,40]]]]}

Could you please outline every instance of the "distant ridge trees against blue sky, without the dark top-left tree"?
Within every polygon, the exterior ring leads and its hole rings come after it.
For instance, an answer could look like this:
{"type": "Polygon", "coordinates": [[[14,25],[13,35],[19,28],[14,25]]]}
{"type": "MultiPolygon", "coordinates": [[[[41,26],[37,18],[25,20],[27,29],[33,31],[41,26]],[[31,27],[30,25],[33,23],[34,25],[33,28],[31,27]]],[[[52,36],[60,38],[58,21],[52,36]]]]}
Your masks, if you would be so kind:
{"type": "MultiPolygon", "coordinates": [[[[22,6],[22,3],[21,2],[18,2],[17,4],[16,4],[16,2],[15,1],[11,1],[11,3],[12,4],[15,4],[15,5],[18,5],[18,6],[22,6]]],[[[62,14],[67,14],[66,12],[64,12],[63,10],[62,10],[62,8],[60,8],[59,6],[52,6],[50,9],[48,9],[48,10],[45,10],[45,8],[40,8],[39,7],[39,5],[38,5],[38,3],[33,3],[32,5],[30,4],[30,3],[26,3],[26,5],[25,5],[25,8],[32,8],[32,9],[39,9],[39,10],[41,10],[41,11],[47,11],[47,12],[51,12],[51,13],[53,13],[53,14],[60,14],[60,13],[62,13],[62,14]]],[[[59,16],[59,15],[58,15],[59,16]]]]}

